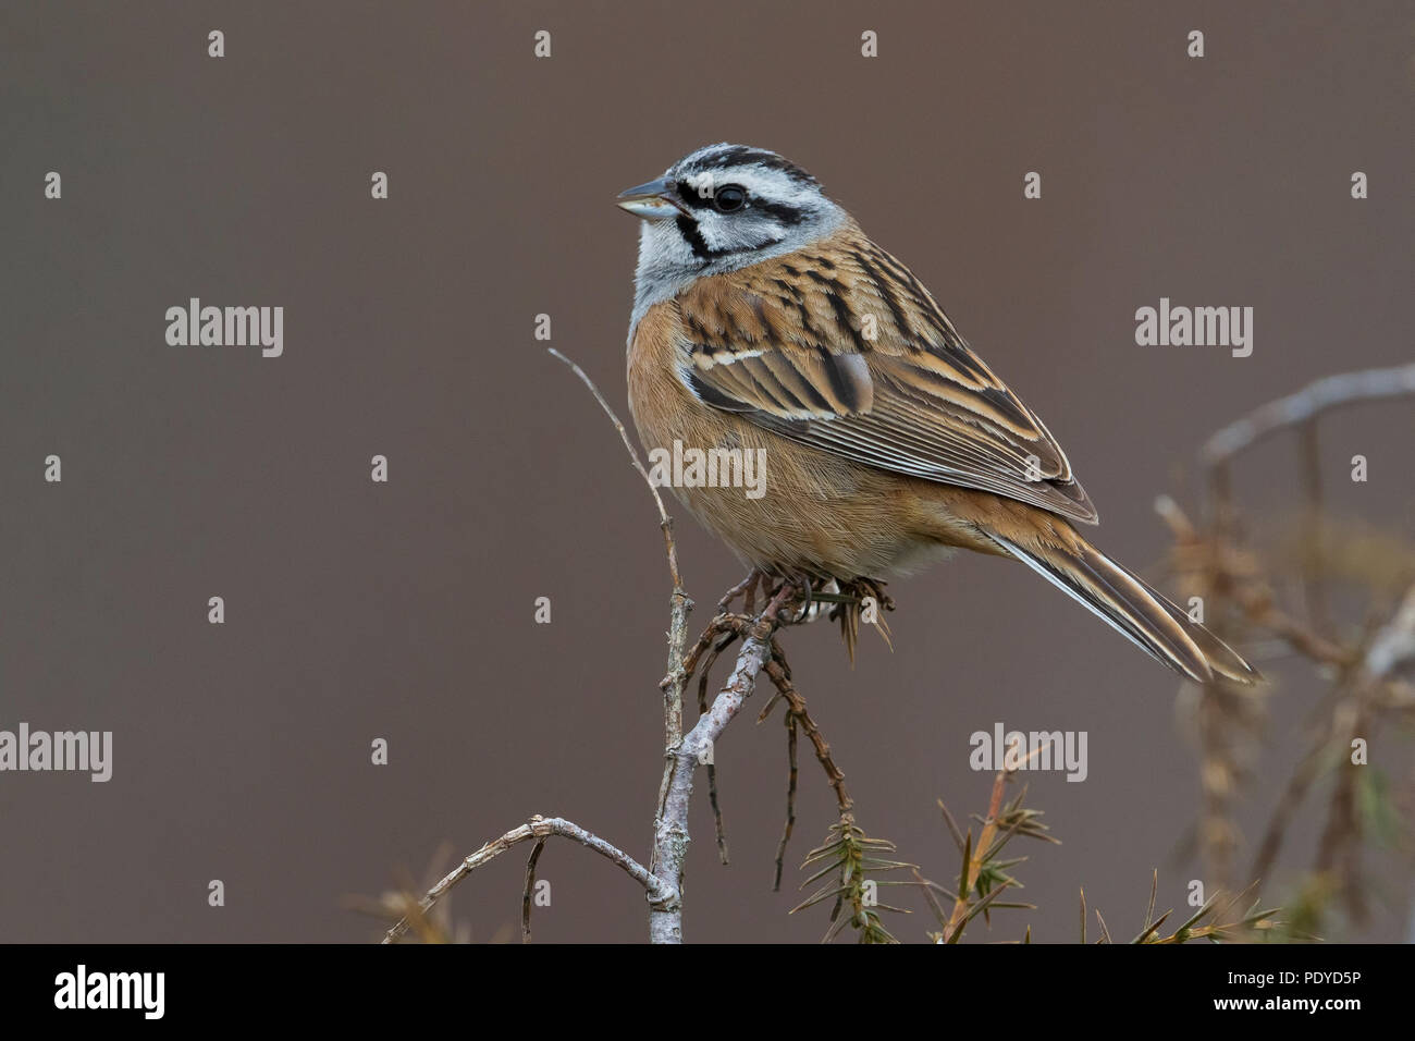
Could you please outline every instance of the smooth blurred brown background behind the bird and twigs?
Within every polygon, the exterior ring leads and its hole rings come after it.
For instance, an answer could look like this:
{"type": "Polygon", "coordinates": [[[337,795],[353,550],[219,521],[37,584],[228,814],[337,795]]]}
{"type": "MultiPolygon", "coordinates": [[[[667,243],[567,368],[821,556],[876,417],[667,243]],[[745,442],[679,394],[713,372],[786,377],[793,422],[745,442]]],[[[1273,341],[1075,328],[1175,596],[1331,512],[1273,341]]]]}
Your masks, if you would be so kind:
{"type": "MultiPolygon", "coordinates": [[[[341,897],[531,813],[647,857],[661,542],[532,324],[549,313],[627,418],[637,228],[611,198],[709,142],[801,163],[910,263],[1065,446],[1098,542],[1155,575],[1153,499],[1213,429],[1411,357],[1412,21],[1408,3],[4,4],[0,728],[112,729],[116,751],[106,785],[0,775],[0,939],[362,942],[381,928],[341,897]],[[283,305],[284,355],[168,347],[164,310],[191,296],[283,305]],[[1136,347],[1160,296],[1252,306],[1252,357],[1136,347]]],[[[1333,507],[1408,527],[1409,404],[1326,431],[1333,507]],[[1354,453],[1370,483],[1346,480],[1354,453]]],[[[1295,474],[1275,442],[1241,496],[1295,501],[1295,474]]],[[[703,622],[741,568],[686,518],[679,550],[703,622]]],[[[934,800],[982,812],[990,780],[968,735],[1085,729],[1085,783],[1032,778],[1064,840],[1022,850],[1040,911],[992,936],[1073,940],[1080,885],[1125,932],[1152,867],[1182,905],[1197,782],[1169,674],[1020,567],[965,555],[891,592],[894,652],[866,633],[853,671],[828,627],[787,637],[866,830],[949,877],[934,800]]],[[[1254,826],[1300,690],[1276,695],[1254,826]]],[[[824,909],[785,915],[833,821],[814,761],[781,894],[780,718],[744,714],[717,763],[733,863],[702,799],[688,939],[816,939],[824,909]]],[[[522,874],[519,854],[491,865],[454,918],[475,939],[512,925],[522,874]]],[[[552,844],[541,874],[538,939],[647,935],[607,863],[552,844]]],[[[1402,935],[1408,888],[1364,938],[1402,935]]]]}

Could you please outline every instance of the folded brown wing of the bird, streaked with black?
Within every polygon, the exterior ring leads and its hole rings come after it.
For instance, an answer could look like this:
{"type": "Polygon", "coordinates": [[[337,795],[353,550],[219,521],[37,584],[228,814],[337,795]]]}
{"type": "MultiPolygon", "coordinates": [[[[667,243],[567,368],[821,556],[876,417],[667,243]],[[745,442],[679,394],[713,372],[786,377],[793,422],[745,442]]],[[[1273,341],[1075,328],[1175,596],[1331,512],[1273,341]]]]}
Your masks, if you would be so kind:
{"type": "Polygon", "coordinates": [[[679,375],[703,402],[883,470],[1098,520],[1041,421],[869,239],[699,279],[678,305],[679,375]]]}

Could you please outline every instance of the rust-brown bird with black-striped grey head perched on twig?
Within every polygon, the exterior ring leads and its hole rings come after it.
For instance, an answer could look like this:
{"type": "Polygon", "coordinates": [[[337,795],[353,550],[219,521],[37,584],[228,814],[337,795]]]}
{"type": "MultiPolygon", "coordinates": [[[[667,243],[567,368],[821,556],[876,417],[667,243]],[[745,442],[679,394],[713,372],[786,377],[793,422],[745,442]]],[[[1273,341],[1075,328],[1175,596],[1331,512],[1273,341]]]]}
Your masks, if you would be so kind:
{"type": "Polygon", "coordinates": [[[1081,534],[1099,514],[1056,438],[814,176],[719,143],[616,203],[640,218],[640,439],[763,459],[757,497],[672,487],[753,575],[877,586],[959,548],[1006,557],[1187,680],[1261,681],[1081,534]]]}

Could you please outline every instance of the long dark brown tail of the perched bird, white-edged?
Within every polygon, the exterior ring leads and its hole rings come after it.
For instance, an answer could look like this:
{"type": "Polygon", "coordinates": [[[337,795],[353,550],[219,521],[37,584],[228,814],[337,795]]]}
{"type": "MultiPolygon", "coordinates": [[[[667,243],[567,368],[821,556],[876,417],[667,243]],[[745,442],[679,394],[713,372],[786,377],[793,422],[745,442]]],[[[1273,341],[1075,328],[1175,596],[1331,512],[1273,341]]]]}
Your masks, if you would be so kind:
{"type": "MultiPolygon", "coordinates": [[[[1057,525],[1061,528],[1061,525],[1057,525]]],[[[1012,557],[1090,608],[1146,654],[1180,676],[1259,683],[1262,676],[1227,643],[1067,525],[1061,538],[1019,542],[988,535],[1012,557]]]]}

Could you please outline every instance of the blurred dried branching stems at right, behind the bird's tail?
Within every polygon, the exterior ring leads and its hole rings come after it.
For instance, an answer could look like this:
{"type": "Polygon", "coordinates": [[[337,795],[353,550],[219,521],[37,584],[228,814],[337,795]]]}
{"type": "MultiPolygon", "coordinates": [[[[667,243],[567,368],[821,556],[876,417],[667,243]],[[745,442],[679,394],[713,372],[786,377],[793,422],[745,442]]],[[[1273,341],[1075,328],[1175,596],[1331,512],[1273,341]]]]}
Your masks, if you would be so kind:
{"type": "MultiPolygon", "coordinates": [[[[1213,501],[1207,530],[1196,530],[1167,497],[1157,504],[1174,533],[1173,558],[1204,595],[1215,632],[1227,636],[1223,622],[1241,619],[1279,637],[1330,680],[1317,710],[1320,719],[1312,727],[1310,745],[1268,820],[1252,874],[1268,877],[1289,824],[1317,779],[1336,763],[1313,868],[1316,877],[1327,880],[1324,885],[1344,895],[1357,919],[1365,899],[1360,878],[1365,827],[1361,800],[1365,796],[1358,785],[1361,772],[1347,768],[1344,759],[1353,741],[1377,724],[1382,708],[1401,705],[1399,681],[1390,663],[1415,657],[1415,591],[1407,593],[1397,616],[1378,633],[1367,630],[1365,637],[1347,639],[1336,629],[1329,601],[1334,595],[1330,586],[1341,572],[1337,569],[1340,561],[1332,557],[1336,533],[1323,486],[1319,428],[1322,416],[1332,409],[1409,395],[1415,395],[1415,364],[1317,380],[1228,423],[1203,445],[1200,460],[1207,467],[1213,501]],[[1275,589],[1281,586],[1262,574],[1257,554],[1244,547],[1232,494],[1237,457],[1279,432],[1290,432],[1299,456],[1303,541],[1295,578],[1302,591],[1303,618],[1278,606],[1275,589]]],[[[1258,697],[1261,693],[1214,684],[1199,701],[1200,778],[1206,793],[1200,846],[1210,870],[1221,881],[1227,881],[1228,854],[1240,837],[1230,804],[1244,776],[1245,742],[1262,714],[1261,704],[1255,702],[1258,697]]]]}

